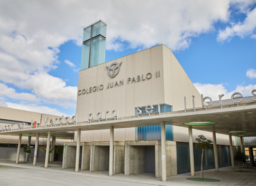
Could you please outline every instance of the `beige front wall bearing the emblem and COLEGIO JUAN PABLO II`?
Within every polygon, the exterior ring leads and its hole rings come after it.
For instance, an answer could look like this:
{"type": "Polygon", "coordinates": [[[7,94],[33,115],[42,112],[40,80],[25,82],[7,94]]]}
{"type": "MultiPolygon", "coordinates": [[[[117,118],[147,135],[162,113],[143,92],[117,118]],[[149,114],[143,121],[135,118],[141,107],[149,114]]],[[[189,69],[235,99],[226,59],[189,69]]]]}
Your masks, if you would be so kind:
{"type": "Polygon", "coordinates": [[[77,96],[77,121],[88,121],[89,114],[97,112],[102,112],[104,118],[104,113],[112,110],[118,110],[120,117],[134,116],[135,107],[164,103],[163,76],[156,78],[158,70],[163,72],[162,45],[80,71],[78,90],[98,85],[104,85],[104,89],[77,96]],[[122,62],[122,65],[119,74],[112,79],[106,66],[113,62],[122,62]],[[146,79],[149,72],[152,78],[146,79]],[[137,76],[140,82],[127,83],[128,78],[137,76]],[[122,80],[124,85],[107,89],[108,83],[122,80]]]}

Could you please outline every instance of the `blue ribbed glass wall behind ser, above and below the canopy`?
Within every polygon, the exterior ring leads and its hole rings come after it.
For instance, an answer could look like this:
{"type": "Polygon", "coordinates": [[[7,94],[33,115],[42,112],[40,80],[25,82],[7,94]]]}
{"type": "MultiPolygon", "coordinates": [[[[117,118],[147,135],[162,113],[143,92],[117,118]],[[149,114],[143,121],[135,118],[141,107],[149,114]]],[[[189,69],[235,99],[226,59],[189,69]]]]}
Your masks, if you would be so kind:
{"type": "MultiPolygon", "coordinates": [[[[154,110],[152,114],[158,113],[158,105],[153,105],[154,110]]],[[[163,104],[161,105],[161,112],[172,112],[172,106],[163,104]]],[[[142,114],[147,114],[145,107],[141,108],[142,114]]],[[[137,116],[137,108],[135,109],[135,115],[137,116]]],[[[166,140],[173,141],[173,127],[172,125],[165,125],[166,140]]],[[[149,140],[161,140],[161,125],[136,127],[135,128],[135,140],[136,141],[149,141],[149,140]]]]}

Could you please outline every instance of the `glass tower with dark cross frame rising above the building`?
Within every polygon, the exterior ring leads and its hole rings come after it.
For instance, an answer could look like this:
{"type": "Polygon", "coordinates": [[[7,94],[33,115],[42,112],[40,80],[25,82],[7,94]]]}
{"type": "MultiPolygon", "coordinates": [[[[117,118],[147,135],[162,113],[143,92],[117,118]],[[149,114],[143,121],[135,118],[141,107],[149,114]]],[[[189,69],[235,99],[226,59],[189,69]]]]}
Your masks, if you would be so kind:
{"type": "Polygon", "coordinates": [[[82,39],[81,70],[105,62],[107,23],[100,20],[86,28],[82,39]]]}

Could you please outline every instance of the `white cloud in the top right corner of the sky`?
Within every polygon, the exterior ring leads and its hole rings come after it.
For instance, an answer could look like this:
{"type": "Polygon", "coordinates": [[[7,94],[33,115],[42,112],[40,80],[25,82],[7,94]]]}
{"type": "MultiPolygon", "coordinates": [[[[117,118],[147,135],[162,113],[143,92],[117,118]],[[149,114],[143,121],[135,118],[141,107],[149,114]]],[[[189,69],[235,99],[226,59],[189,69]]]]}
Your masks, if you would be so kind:
{"type": "Polygon", "coordinates": [[[254,2],[256,1],[239,3],[239,5],[241,5],[241,12],[246,14],[246,19],[244,22],[239,21],[238,23],[231,23],[231,27],[227,26],[225,30],[219,30],[218,41],[230,40],[235,36],[246,37],[252,35],[251,37],[253,37],[253,30],[256,28],[256,8],[250,11],[248,6],[254,2]]]}

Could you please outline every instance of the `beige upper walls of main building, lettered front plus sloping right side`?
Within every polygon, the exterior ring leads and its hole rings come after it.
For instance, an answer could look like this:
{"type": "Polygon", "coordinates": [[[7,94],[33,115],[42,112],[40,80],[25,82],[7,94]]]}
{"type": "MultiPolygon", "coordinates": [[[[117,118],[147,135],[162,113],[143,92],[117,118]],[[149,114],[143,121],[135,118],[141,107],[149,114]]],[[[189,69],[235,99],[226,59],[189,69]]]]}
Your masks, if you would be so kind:
{"type": "MultiPolygon", "coordinates": [[[[94,115],[106,111],[118,110],[119,116],[134,116],[135,107],[167,103],[173,110],[184,110],[184,96],[187,107],[192,108],[192,95],[195,96],[196,107],[201,106],[201,97],[175,58],[172,51],[165,45],[158,45],[120,59],[97,65],[80,71],[78,90],[104,85],[103,90],[89,94],[77,95],[77,121],[88,121],[90,113],[94,115]],[[113,62],[121,63],[119,74],[111,78],[106,66],[113,62]],[[156,71],[160,70],[160,77],[156,71]],[[129,82],[133,78],[152,73],[152,79],[140,82],[129,82]],[[110,82],[114,84],[124,80],[124,85],[107,89],[110,82]]],[[[110,115],[110,114],[109,114],[110,115]]]]}

